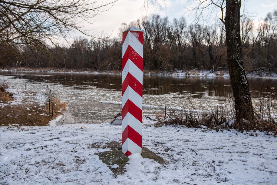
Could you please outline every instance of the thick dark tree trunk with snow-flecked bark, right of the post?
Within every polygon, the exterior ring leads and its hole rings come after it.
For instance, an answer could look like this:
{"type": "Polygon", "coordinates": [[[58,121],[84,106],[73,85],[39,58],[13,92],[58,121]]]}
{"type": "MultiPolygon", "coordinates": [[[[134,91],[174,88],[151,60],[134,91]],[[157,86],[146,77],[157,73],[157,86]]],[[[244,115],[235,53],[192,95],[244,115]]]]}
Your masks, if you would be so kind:
{"type": "Polygon", "coordinates": [[[236,124],[239,130],[250,129],[254,111],[249,93],[249,85],[242,62],[240,38],[241,0],[226,0],[226,45],[230,81],[235,99],[236,124]]]}

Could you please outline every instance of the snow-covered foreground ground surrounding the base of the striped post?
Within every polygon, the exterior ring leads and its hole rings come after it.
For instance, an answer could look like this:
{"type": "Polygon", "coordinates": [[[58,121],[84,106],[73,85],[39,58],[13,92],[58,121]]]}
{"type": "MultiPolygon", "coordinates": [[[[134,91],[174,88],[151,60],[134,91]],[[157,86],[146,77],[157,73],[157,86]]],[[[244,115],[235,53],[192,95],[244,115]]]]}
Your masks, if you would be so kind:
{"type": "MultiPolygon", "coordinates": [[[[99,160],[99,143],[121,142],[121,126],[108,123],[0,127],[1,184],[268,184],[277,182],[277,138],[265,133],[216,132],[151,126],[143,146],[168,165],[131,155],[114,177],[99,160]],[[250,136],[250,135],[254,136],[250,136]]],[[[117,167],[114,165],[113,167],[117,167]]]]}

